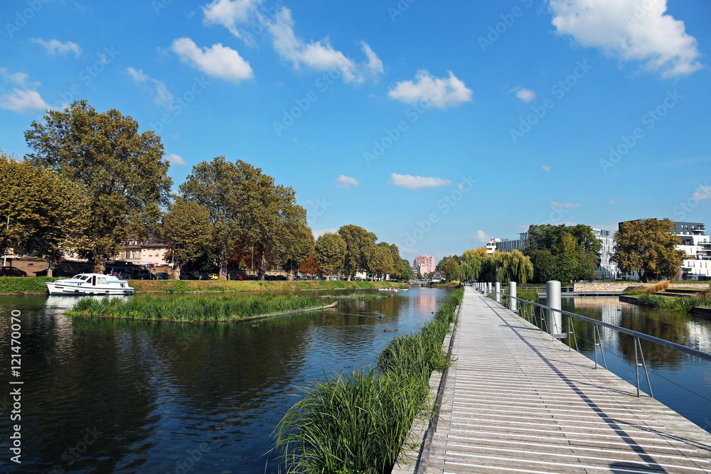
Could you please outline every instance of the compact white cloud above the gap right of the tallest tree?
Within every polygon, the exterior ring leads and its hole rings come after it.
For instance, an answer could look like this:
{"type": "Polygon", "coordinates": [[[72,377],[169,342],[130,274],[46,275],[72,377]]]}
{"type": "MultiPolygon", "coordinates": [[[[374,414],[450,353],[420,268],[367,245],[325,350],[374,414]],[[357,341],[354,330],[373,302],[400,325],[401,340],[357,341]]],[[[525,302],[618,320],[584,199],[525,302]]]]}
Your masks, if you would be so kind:
{"type": "Polygon", "coordinates": [[[240,53],[223,46],[222,43],[201,49],[190,38],[178,38],[173,41],[171,50],[180,56],[183,63],[188,63],[212,77],[232,82],[254,77],[250,63],[245,61],[240,53]]]}

